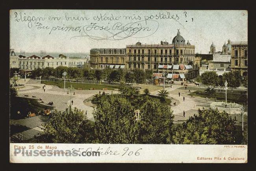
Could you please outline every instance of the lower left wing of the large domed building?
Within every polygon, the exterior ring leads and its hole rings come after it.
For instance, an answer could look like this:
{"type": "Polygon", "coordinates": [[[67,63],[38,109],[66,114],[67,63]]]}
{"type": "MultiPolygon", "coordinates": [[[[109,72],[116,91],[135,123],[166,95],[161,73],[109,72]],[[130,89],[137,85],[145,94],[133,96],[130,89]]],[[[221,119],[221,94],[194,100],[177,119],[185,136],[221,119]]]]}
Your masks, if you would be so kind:
{"type": "Polygon", "coordinates": [[[125,68],[126,49],[125,48],[95,48],[90,50],[91,68],[125,68]]]}

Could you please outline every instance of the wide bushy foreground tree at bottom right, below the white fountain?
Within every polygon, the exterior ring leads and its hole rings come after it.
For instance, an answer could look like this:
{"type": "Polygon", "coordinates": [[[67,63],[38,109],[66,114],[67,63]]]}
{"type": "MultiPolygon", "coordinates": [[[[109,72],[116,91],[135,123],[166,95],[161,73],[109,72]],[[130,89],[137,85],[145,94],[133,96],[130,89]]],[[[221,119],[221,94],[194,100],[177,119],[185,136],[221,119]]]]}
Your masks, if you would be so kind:
{"type": "Polygon", "coordinates": [[[236,144],[235,121],[225,111],[209,108],[174,128],[176,144],[236,144]]]}

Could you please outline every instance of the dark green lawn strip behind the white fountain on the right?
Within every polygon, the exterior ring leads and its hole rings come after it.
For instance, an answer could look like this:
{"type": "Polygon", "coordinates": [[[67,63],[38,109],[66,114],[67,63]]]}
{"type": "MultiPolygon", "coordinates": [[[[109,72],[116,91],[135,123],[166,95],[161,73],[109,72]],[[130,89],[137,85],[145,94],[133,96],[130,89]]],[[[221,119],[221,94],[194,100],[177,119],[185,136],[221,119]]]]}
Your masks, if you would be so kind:
{"type": "MultiPolygon", "coordinates": [[[[216,91],[215,94],[213,94],[213,95],[208,95],[204,91],[195,91],[188,95],[189,96],[199,96],[199,97],[204,97],[204,98],[206,98],[206,97],[215,98],[216,97],[217,100],[222,100],[222,101],[226,100],[226,95],[225,95],[224,91],[223,92],[216,91]]],[[[233,92],[232,94],[227,93],[227,101],[245,105],[245,104],[247,104],[247,94],[244,94],[243,91],[233,92]]]]}

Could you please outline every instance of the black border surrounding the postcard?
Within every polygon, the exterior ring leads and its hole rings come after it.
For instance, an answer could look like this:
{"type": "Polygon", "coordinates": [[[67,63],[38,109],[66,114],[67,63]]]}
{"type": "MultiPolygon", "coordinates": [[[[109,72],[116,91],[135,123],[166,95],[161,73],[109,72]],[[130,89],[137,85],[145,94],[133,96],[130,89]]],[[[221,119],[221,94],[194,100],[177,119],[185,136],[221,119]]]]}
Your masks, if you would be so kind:
{"type": "MultiPolygon", "coordinates": [[[[93,1],[93,0],[81,0],[80,2],[70,2],[70,1],[49,1],[49,0],[3,0],[1,3],[1,17],[2,23],[0,27],[4,29],[1,38],[3,45],[2,50],[2,59],[1,59],[1,80],[4,80],[0,85],[2,98],[2,116],[1,120],[4,122],[4,134],[2,138],[6,140],[1,149],[4,149],[4,156],[2,162],[4,161],[4,166],[7,169],[4,170],[250,170],[255,169],[255,139],[254,132],[256,128],[256,120],[252,107],[254,107],[254,85],[253,80],[255,78],[254,69],[255,69],[255,47],[254,37],[255,37],[255,28],[254,28],[254,16],[253,9],[254,5],[245,1],[134,1],[131,0],[115,0],[111,2],[108,1],[93,1]],[[249,51],[249,94],[248,94],[248,106],[249,106],[249,146],[248,146],[248,163],[247,164],[10,164],[9,163],[9,10],[10,9],[226,9],[226,10],[248,10],[249,16],[249,30],[248,30],[248,42],[251,51],[249,51]]],[[[221,36],[221,35],[220,35],[221,36]]],[[[1,139],[2,139],[1,138],[1,139]]],[[[2,141],[1,141],[2,142],[2,141]]],[[[3,153],[1,153],[3,154],[3,153]]],[[[3,166],[3,165],[2,165],[3,166]]],[[[1,169],[2,170],[2,169],[1,169]]]]}

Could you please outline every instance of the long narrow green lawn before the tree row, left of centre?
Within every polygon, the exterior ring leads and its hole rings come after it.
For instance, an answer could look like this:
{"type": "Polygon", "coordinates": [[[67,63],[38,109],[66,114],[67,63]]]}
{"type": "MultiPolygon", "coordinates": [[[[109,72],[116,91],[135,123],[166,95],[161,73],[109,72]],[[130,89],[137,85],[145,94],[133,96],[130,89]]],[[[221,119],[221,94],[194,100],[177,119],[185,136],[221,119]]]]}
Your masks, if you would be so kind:
{"type": "MultiPolygon", "coordinates": [[[[41,83],[45,85],[56,85],[59,88],[64,88],[64,82],[60,82],[60,81],[41,81],[41,83]]],[[[66,84],[65,85],[66,88],[72,85],[74,89],[78,89],[78,90],[90,90],[90,88],[94,88],[95,90],[102,90],[103,88],[108,88],[108,90],[114,90],[116,88],[119,88],[118,85],[99,85],[99,84],[69,83],[69,82],[66,82],[65,84],[66,84]]]]}

